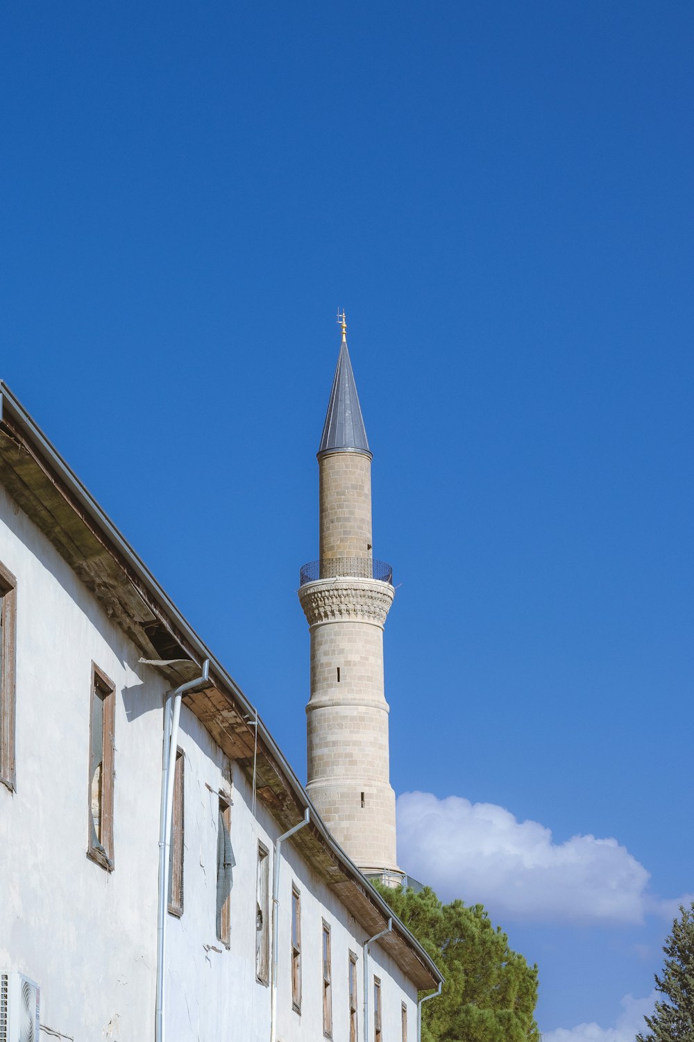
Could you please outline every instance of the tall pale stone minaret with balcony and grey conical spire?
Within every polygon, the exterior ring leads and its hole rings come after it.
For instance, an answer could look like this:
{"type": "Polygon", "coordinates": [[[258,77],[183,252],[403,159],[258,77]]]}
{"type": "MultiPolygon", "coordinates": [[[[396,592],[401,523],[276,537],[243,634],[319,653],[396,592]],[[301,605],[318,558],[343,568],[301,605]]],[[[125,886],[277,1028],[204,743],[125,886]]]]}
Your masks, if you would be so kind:
{"type": "Polygon", "coordinates": [[[319,561],[301,571],[311,631],[307,790],[355,864],[400,882],[389,783],[383,626],[392,571],[371,554],[371,453],[342,343],[318,450],[319,561]]]}

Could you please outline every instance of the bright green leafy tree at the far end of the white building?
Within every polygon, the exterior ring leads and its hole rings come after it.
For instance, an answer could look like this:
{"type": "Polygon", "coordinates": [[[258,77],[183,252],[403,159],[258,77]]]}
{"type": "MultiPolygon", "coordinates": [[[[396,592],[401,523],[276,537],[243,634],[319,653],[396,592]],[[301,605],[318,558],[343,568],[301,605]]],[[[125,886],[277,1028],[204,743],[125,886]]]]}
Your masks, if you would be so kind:
{"type": "Polygon", "coordinates": [[[509,948],[482,904],[442,904],[433,890],[377,885],[445,977],[422,1007],[422,1042],[539,1042],[537,966],[509,948]]]}

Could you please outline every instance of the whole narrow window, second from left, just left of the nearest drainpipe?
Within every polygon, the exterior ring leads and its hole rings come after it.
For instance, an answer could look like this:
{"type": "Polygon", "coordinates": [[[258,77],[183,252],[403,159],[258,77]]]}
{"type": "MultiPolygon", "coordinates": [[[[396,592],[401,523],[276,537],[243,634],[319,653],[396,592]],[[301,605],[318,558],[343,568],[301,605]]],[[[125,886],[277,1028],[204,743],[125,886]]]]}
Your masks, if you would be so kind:
{"type": "Polygon", "coordinates": [[[87,855],[113,869],[113,718],[115,693],[105,673],[92,663],[89,722],[89,840],[87,855]]]}

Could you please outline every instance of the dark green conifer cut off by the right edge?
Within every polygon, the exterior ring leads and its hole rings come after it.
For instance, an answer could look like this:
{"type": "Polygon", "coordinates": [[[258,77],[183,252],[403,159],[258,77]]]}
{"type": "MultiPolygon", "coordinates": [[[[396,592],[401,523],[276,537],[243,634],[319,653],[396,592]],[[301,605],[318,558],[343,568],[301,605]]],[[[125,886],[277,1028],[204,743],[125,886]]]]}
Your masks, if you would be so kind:
{"type": "Polygon", "coordinates": [[[694,901],[679,905],[679,918],[663,945],[666,954],[663,976],[656,974],[656,990],[670,1001],[656,1002],[651,1017],[644,1017],[650,1028],[637,1035],[637,1042],[694,1042],[694,901]]]}

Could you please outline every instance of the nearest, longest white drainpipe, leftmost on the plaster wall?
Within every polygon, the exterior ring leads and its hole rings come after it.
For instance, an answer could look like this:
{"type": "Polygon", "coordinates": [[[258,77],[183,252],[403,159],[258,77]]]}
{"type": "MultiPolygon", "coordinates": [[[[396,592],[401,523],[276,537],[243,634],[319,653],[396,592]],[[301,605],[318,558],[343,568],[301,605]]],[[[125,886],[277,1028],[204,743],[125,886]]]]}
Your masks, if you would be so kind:
{"type": "Polygon", "coordinates": [[[171,820],[174,807],[174,776],[176,771],[176,743],[178,742],[178,721],[181,715],[181,698],[192,694],[196,689],[207,687],[209,659],[203,663],[202,675],[182,684],[176,691],[166,693],[163,726],[163,749],[161,762],[161,811],[159,815],[159,892],[157,909],[157,1006],[155,1014],[156,1042],[164,1042],[164,987],[163,957],[166,941],[166,898],[169,890],[169,851],[171,848],[171,820]]]}

